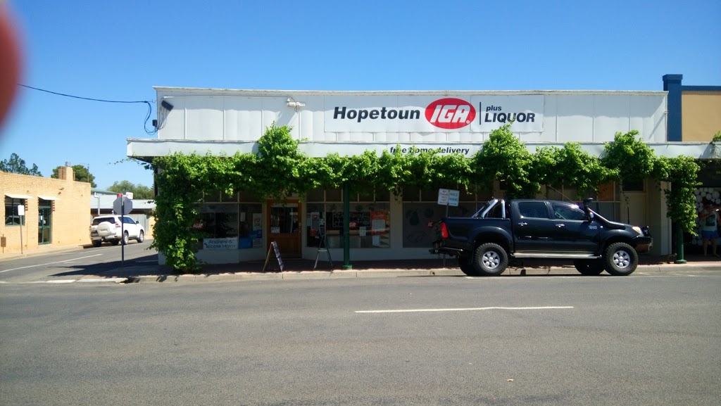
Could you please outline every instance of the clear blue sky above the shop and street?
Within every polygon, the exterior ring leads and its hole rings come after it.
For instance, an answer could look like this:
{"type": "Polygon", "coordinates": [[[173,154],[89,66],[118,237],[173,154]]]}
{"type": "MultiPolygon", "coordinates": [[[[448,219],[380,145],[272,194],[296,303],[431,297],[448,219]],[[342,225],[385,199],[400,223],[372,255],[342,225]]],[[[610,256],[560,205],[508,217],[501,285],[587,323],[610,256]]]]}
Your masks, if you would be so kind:
{"type": "MultiPolygon", "coordinates": [[[[721,85],[718,0],[5,1],[22,84],[147,100],[150,120],[153,86],[662,90],[664,74],[721,85]]],[[[147,112],[19,88],[0,159],[16,153],[47,177],[83,164],[100,188],[151,186],[123,162],[126,138],[156,138],[147,112]]]]}

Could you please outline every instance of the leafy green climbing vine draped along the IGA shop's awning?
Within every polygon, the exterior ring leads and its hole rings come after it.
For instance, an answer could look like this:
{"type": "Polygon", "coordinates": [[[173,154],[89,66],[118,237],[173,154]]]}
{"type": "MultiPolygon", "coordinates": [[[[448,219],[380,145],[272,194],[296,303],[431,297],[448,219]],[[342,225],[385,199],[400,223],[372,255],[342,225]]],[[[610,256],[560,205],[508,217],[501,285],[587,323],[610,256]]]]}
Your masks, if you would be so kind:
{"type": "Polygon", "coordinates": [[[693,232],[693,190],[699,165],[687,156],[657,157],[637,136],[637,131],[616,133],[601,158],[586,153],[577,143],[531,153],[505,125],[492,131],[471,158],[438,151],[403,153],[400,148],[382,154],[363,151],[317,158],[301,153],[290,128],[273,124],[258,140],[257,154],[172,154],[154,160],[159,194],[152,247],[177,272],[192,273],[199,265],[195,252],[202,236],[193,224],[198,221],[203,193],[221,190],[229,195],[252,193],[260,200],[283,199],[345,184],[357,193],[390,190],[400,195],[403,187],[492,190],[495,182],[502,182],[508,198],[534,198],[541,185],[563,185],[575,188],[575,197],[580,199],[611,180],[651,177],[671,184],[663,190],[668,216],[684,231],[693,232]]]}

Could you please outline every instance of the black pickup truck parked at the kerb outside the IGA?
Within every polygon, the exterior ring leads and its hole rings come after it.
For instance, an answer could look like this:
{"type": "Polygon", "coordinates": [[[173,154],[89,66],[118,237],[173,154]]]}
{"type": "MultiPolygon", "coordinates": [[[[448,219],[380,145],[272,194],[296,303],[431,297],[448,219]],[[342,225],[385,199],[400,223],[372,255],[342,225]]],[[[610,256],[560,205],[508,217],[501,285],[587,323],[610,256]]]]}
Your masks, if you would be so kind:
{"type": "Polygon", "coordinates": [[[573,260],[583,275],[630,275],[653,244],[647,227],[604,219],[588,206],[559,200],[492,199],[471,217],[436,224],[432,254],[458,258],[466,275],[500,275],[509,260],[573,260]]]}

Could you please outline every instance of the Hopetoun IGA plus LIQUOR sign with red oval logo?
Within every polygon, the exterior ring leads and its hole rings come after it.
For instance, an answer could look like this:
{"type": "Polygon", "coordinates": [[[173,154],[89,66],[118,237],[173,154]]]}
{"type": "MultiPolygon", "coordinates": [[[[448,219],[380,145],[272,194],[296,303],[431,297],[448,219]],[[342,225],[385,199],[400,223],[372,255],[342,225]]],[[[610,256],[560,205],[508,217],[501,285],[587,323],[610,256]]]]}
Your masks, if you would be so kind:
{"type": "Polygon", "coordinates": [[[544,96],[327,96],[327,132],[490,133],[511,124],[514,133],[542,132],[544,96]]]}

